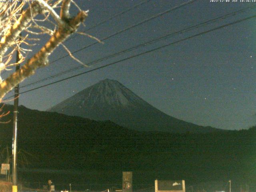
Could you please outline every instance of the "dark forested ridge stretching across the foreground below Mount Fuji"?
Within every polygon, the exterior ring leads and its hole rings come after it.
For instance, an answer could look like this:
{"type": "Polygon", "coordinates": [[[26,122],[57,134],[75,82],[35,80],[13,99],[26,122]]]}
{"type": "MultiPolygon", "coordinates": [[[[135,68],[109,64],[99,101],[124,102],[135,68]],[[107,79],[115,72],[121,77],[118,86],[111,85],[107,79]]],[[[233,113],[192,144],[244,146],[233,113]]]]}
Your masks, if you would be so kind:
{"type": "MultiPolygon", "coordinates": [[[[12,143],[13,106],[4,106],[3,111],[10,114],[1,121],[11,122],[0,123],[1,151],[12,143]]],[[[24,106],[18,111],[18,149],[32,154],[28,168],[86,172],[19,174],[28,182],[54,178],[55,183],[111,186],[120,183],[125,170],[134,171],[134,186],[145,182],[151,185],[156,178],[184,178],[189,185],[214,180],[226,183],[230,178],[240,187],[244,180],[254,184],[256,179],[252,171],[256,128],[208,134],[138,132],[109,121],[96,122],[24,106]]]]}

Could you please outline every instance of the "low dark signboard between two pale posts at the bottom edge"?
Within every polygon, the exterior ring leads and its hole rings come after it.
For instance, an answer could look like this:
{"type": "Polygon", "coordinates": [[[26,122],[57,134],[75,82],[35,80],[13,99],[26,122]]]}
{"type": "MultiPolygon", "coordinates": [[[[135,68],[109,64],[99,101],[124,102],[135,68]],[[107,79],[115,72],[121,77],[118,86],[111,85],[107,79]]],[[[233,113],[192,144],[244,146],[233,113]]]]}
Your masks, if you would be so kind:
{"type": "Polygon", "coordinates": [[[155,180],[155,192],[186,192],[184,180],[155,180]]]}

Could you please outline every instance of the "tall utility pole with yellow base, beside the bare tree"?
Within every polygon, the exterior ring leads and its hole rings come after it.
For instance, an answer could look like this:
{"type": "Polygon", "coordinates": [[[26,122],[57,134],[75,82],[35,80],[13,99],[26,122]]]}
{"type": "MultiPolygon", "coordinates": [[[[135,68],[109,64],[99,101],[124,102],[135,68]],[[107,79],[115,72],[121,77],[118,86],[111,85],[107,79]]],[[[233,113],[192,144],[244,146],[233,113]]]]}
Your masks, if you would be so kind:
{"type": "MultiPolygon", "coordinates": [[[[20,34],[21,37],[21,34],[20,34]]],[[[16,51],[16,71],[20,69],[20,52],[16,51]]],[[[17,131],[18,131],[19,84],[14,88],[13,138],[12,138],[12,192],[18,192],[17,186],[17,131]]]]}

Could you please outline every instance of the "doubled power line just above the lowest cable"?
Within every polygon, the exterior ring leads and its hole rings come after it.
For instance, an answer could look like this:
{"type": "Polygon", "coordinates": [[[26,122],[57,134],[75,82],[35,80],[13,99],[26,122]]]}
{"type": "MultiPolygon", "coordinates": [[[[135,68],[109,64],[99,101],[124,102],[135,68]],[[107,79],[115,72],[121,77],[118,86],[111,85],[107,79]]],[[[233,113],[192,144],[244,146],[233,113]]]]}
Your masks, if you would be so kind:
{"type": "MultiPolygon", "coordinates": [[[[225,15],[220,16],[220,17],[218,17],[218,18],[214,18],[214,19],[211,19],[211,20],[207,20],[207,21],[202,22],[202,23],[200,23],[200,24],[196,24],[196,25],[194,25],[194,26],[190,26],[190,27],[184,28],[184,29],[182,29],[182,30],[179,30],[179,31],[176,31],[176,32],[173,32],[173,33],[164,35],[164,36],[161,36],[161,37],[159,37],[159,38],[150,40],[150,41],[148,41],[148,42],[144,42],[144,43],[139,44],[139,45],[137,45],[137,46],[133,46],[133,47],[131,47],[131,48],[128,48],[128,49],[126,49],[126,50],[122,50],[122,51],[120,51],[120,52],[117,52],[117,53],[114,53],[114,54],[110,54],[110,55],[108,55],[108,56],[104,56],[103,58],[94,60],[94,61],[92,61],[92,62],[88,62],[88,63],[86,63],[86,65],[91,65],[91,64],[95,64],[95,63],[101,62],[101,61],[103,61],[103,60],[112,58],[112,57],[114,57],[114,56],[118,56],[118,55],[120,55],[120,54],[123,54],[123,53],[126,53],[126,52],[130,52],[130,51],[135,50],[135,49],[137,49],[137,48],[141,48],[141,47],[147,46],[147,45],[152,44],[152,43],[154,43],[154,42],[157,42],[157,41],[160,41],[160,40],[164,40],[164,39],[166,39],[166,38],[170,38],[170,37],[175,36],[175,35],[177,35],[177,34],[182,34],[182,33],[184,33],[184,32],[188,32],[188,31],[190,31],[190,30],[193,30],[193,29],[196,29],[196,28],[199,28],[199,27],[202,27],[202,26],[206,26],[206,25],[208,25],[208,24],[212,24],[212,23],[214,23],[214,22],[217,22],[218,20],[226,19],[226,18],[228,18],[228,17],[230,17],[230,16],[234,16],[234,15],[236,15],[236,14],[245,12],[245,11],[247,11],[247,10],[249,10],[249,9],[253,9],[253,8],[256,8],[256,6],[250,6],[250,7],[243,8],[243,9],[241,9],[241,10],[238,10],[238,11],[235,11],[235,12],[232,12],[232,13],[225,14],[225,15]]],[[[81,69],[81,68],[84,68],[84,66],[78,66],[78,67],[75,67],[75,68],[66,70],[66,71],[64,71],[64,72],[60,72],[60,73],[54,74],[54,75],[52,75],[52,76],[43,78],[43,79],[38,80],[38,81],[36,81],[36,82],[32,82],[32,83],[26,84],[26,85],[24,85],[24,86],[21,86],[20,88],[24,88],[24,87],[31,86],[31,85],[34,85],[34,84],[38,84],[38,83],[40,83],[40,82],[44,82],[44,81],[46,81],[46,80],[50,80],[50,79],[52,79],[52,78],[56,78],[56,77],[58,77],[58,76],[61,76],[61,75],[63,75],[63,74],[66,74],[66,73],[69,73],[69,72],[72,72],[72,71],[74,71],[74,70],[78,70],[78,69],[81,69]]]]}

